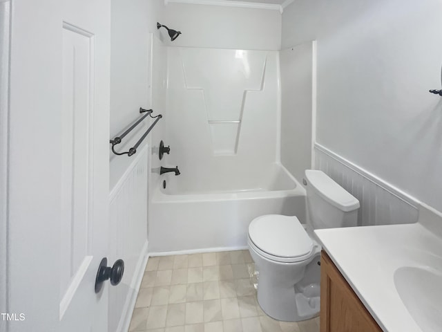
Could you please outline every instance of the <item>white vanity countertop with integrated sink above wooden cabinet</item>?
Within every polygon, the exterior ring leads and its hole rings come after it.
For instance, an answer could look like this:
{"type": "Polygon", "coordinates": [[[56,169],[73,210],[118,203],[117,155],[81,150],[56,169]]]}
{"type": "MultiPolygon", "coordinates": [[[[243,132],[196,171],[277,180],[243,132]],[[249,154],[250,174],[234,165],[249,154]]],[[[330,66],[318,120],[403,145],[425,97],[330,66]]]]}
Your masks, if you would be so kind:
{"type": "Polygon", "coordinates": [[[420,205],[417,223],[316,235],[382,331],[442,331],[441,212],[420,205]]]}

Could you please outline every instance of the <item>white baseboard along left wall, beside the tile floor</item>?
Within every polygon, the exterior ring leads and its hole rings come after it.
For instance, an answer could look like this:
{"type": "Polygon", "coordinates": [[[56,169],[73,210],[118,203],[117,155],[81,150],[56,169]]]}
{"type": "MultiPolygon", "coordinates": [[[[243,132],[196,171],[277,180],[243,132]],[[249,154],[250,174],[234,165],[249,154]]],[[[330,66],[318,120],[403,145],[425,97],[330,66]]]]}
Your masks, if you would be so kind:
{"type": "Polygon", "coordinates": [[[117,331],[128,332],[131,325],[132,313],[135,308],[135,302],[137,302],[138,292],[140,291],[141,282],[144,277],[144,270],[148,261],[148,241],[144,243],[140,258],[137,261],[137,267],[135,268],[135,277],[132,279],[131,288],[133,288],[132,296],[127,297],[124,304],[122,319],[119,320],[117,331]]]}

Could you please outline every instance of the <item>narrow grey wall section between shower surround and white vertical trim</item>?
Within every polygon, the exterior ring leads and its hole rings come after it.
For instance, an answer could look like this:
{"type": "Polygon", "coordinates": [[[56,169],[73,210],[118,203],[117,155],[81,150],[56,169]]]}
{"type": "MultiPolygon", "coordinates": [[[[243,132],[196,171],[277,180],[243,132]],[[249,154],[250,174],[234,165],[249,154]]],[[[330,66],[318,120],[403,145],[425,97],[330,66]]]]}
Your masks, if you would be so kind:
{"type": "Polygon", "coordinates": [[[281,163],[298,181],[312,167],[314,46],[314,42],[305,42],[280,51],[281,163]]]}

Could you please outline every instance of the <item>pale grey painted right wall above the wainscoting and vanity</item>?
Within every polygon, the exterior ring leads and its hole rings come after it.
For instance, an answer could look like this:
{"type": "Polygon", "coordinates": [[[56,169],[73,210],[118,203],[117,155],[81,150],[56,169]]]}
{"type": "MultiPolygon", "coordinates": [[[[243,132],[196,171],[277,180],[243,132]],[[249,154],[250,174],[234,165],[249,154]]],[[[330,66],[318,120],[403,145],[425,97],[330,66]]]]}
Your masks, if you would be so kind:
{"type": "Polygon", "coordinates": [[[318,41],[317,140],[442,210],[439,0],[297,0],[282,47],[318,41]]]}

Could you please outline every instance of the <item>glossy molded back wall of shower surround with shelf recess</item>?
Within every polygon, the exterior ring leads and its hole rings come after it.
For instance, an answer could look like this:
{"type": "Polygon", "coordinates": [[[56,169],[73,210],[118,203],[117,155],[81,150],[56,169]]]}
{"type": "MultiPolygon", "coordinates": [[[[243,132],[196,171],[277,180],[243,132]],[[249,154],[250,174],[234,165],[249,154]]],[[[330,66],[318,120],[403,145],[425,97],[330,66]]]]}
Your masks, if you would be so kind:
{"type": "Polygon", "coordinates": [[[168,71],[165,162],[182,173],[170,181],[258,183],[278,158],[278,52],[169,47],[168,71]]]}

